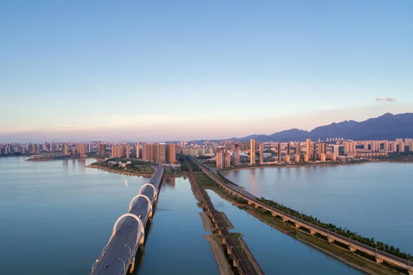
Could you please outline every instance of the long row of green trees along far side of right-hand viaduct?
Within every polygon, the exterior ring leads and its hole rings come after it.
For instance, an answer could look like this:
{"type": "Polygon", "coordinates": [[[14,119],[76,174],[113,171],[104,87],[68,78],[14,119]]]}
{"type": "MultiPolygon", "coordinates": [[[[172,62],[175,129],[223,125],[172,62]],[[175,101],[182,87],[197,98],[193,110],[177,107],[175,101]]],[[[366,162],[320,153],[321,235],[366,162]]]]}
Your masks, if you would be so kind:
{"type": "Polygon", "coordinates": [[[388,245],[380,241],[375,241],[374,238],[361,236],[357,232],[352,232],[350,230],[347,230],[346,228],[337,227],[332,223],[323,223],[316,217],[308,216],[306,214],[298,212],[297,210],[293,210],[290,207],[286,207],[285,205],[276,203],[275,201],[267,200],[266,198],[257,198],[257,200],[261,201],[262,203],[265,203],[266,205],[275,207],[278,210],[281,210],[282,212],[286,212],[290,215],[296,216],[297,218],[301,218],[302,220],[307,221],[308,223],[313,223],[314,225],[323,227],[324,229],[340,234],[341,236],[345,236],[346,238],[351,238],[353,240],[359,241],[360,243],[369,245],[370,247],[377,247],[377,249],[388,252],[389,254],[392,254],[394,256],[398,256],[399,258],[404,258],[406,260],[413,258],[412,255],[407,254],[405,252],[401,252],[399,247],[394,247],[393,245],[388,245]]]}

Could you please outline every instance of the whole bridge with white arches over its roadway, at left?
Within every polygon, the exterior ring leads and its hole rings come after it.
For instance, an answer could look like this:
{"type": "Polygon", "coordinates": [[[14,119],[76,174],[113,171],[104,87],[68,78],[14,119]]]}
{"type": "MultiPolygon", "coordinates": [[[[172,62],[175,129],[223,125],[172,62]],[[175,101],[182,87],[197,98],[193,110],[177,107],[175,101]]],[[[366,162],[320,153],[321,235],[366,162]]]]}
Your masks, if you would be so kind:
{"type": "Polygon", "coordinates": [[[121,215],[114,224],[112,236],[102,253],[92,265],[89,275],[125,275],[134,272],[135,255],[139,245],[145,243],[145,226],[153,215],[153,203],[158,199],[162,167],[153,167],[149,183],[140,187],[139,193],[129,203],[129,212],[121,215]]]}

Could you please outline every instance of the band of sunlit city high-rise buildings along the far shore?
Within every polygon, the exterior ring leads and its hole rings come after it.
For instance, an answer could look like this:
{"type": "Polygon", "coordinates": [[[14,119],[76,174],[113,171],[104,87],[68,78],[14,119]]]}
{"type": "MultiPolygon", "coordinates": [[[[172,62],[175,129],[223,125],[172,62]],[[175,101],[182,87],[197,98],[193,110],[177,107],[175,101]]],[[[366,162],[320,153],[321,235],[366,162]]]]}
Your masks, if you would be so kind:
{"type": "Polygon", "coordinates": [[[341,158],[368,158],[388,154],[413,152],[413,139],[395,141],[352,141],[329,138],[326,141],[288,143],[250,141],[205,141],[187,143],[107,143],[90,141],[82,143],[6,143],[0,144],[0,154],[43,154],[86,156],[98,154],[112,158],[131,158],[154,163],[176,163],[176,154],[207,156],[215,159],[216,167],[224,168],[242,163],[299,163],[309,161],[336,161],[341,158]]]}

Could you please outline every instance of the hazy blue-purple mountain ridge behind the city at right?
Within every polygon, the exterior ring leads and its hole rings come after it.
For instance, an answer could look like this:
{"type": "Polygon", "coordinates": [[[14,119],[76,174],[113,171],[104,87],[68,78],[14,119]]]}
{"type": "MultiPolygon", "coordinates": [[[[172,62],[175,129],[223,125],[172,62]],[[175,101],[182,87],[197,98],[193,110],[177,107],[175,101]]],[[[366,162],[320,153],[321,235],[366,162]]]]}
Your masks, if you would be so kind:
{"type": "Polygon", "coordinates": [[[332,137],[342,137],[354,140],[403,139],[413,137],[413,113],[383,114],[382,116],[366,121],[342,121],[330,125],[319,126],[312,131],[299,129],[285,130],[274,134],[253,134],[242,138],[233,138],[240,141],[255,139],[257,141],[305,141],[306,139],[325,140],[332,137]]]}

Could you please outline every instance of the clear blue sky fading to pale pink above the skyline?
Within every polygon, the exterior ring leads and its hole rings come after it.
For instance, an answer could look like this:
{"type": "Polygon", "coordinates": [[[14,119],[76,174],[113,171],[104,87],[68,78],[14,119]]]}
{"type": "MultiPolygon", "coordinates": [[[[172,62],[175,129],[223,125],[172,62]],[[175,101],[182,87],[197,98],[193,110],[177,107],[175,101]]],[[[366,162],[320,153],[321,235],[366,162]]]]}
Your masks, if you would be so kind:
{"type": "Polygon", "coordinates": [[[0,0],[0,142],[226,139],[413,112],[412,10],[0,0]]]}

